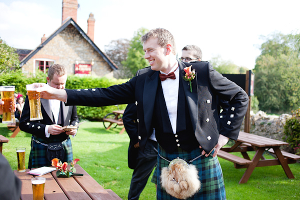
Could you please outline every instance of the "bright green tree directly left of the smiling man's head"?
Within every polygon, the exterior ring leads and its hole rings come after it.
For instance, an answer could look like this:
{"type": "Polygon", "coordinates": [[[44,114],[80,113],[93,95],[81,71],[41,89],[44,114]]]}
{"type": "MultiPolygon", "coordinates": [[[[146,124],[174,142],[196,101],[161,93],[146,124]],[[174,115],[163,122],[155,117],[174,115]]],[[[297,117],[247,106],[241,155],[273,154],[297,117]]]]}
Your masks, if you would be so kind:
{"type": "Polygon", "coordinates": [[[140,37],[146,32],[148,32],[148,30],[143,27],[134,32],[134,36],[130,40],[127,59],[122,62],[122,64],[131,72],[130,77],[133,77],[138,69],[148,66],[148,62],[144,58],[144,51],[140,41],[140,37]]]}

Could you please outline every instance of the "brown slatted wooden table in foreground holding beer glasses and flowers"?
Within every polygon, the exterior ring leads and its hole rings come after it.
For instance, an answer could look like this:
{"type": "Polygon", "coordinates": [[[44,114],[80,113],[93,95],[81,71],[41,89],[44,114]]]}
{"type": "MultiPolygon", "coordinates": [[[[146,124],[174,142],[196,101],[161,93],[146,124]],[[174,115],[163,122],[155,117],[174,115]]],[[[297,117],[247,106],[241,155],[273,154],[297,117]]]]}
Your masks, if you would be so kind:
{"type": "MultiPolygon", "coordinates": [[[[41,177],[46,178],[44,186],[44,199],[121,199],[111,189],[104,189],[95,179],[93,179],[79,164],[75,164],[76,173],[83,173],[83,176],[71,176],[69,178],[56,177],[56,170],[46,173],[41,177]]],[[[14,174],[22,181],[21,200],[31,200],[32,185],[31,178],[34,175],[25,172],[14,174]]],[[[38,177],[38,176],[37,176],[38,177]]]]}

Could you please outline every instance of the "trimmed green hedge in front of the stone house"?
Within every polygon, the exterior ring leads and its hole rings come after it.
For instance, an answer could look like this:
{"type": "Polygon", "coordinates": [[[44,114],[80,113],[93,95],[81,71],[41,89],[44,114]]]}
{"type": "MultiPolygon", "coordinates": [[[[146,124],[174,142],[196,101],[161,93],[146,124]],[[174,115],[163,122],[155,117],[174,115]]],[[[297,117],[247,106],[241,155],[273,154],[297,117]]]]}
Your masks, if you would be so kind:
{"type": "MultiPolygon", "coordinates": [[[[108,87],[110,85],[124,83],[127,80],[128,79],[68,75],[65,87],[68,89],[108,87]]],[[[16,70],[0,75],[0,85],[15,85],[15,92],[20,92],[23,95],[26,95],[25,85],[32,82],[46,82],[46,74],[38,72],[35,76],[32,76],[23,74],[21,70],[16,70]]],[[[125,104],[119,105],[119,109],[125,109],[125,107],[125,104]]],[[[77,106],[77,114],[80,119],[101,121],[105,114],[116,109],[117,107],[114,105],[103,107],[77,106]]]]}

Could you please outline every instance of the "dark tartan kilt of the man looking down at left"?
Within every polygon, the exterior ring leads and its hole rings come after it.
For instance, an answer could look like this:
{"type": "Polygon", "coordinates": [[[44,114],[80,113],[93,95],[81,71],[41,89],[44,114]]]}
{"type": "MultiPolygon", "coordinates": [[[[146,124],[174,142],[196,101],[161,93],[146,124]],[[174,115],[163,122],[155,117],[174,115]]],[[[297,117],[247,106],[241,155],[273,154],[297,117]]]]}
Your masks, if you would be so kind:
{"type": "MultiPolygon", "coordinates": [[[[38,140],[41,143],[48,144],[49,141],[38,138],[36,136],[32,136],[35,140],[38,140]]],[[[52,139],[50,142],[61,142],[57,139],[52,139]]],[[[62,144],[64,149],[64,158],[61,160],[62,162],[67,162],[68,164],[73,159],[73,151],[71,140],[68,137],[67,140],[62,144]]],[[[40,143],[36,143],[31,139],[31,150],[29,154],[28,168],[37,168],[41,166],[51,166],[51,162],[47,159],[47,148],[48,146],[44,146],[40,143]]]]}

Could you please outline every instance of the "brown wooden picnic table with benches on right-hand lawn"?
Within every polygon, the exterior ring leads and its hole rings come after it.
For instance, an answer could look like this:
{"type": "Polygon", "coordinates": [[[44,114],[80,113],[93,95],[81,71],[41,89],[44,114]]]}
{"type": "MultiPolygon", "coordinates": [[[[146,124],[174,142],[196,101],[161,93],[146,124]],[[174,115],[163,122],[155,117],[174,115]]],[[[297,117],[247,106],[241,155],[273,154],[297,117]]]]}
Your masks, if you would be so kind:
{"type": "Polygon", "coordinates": [[[246,168],[238,183],[247,182],[254,168],[259,166],[281,165],[286,176],[294,178],[288,164],[295,163],[300,156],[281,151],[280,146],[283,145],[288,145],[288,143],[240,131],[235,143],[231,147],[221,148],[217,156],[232,161],[235,168],[246,168]],[[255,151],[252,159],[248,151],[255,151]],[[265,151],[271,153],[274,159],[266,159],[263,156],[265,151]],[[241,152],[243,158],[229,152],[241,152]]]}

